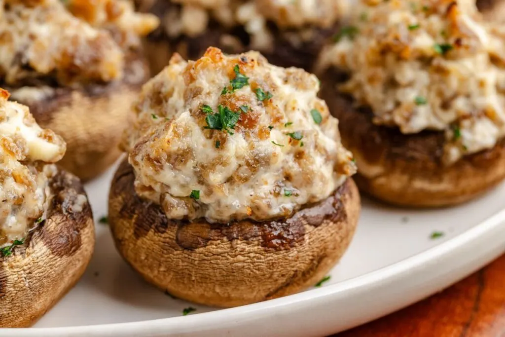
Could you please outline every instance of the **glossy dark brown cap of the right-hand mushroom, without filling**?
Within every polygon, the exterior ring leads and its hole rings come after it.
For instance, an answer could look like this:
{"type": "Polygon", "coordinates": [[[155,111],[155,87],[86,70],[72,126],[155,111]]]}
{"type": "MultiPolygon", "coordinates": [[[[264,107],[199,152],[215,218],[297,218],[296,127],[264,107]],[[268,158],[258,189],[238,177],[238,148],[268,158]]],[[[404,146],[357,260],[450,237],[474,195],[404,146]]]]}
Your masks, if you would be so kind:
{"type": "Polygon", "coordinates": [[[395,205],[443,207],[469,201],[505,179],[505,139],[446,166],[443,132],[407,135],[375,125],[371,111],[357,110],[337,92],[341,74],[329,69],[320,78],[321,97],[340,122],[342,144],[356,158],[360,190],[395,205]]]}

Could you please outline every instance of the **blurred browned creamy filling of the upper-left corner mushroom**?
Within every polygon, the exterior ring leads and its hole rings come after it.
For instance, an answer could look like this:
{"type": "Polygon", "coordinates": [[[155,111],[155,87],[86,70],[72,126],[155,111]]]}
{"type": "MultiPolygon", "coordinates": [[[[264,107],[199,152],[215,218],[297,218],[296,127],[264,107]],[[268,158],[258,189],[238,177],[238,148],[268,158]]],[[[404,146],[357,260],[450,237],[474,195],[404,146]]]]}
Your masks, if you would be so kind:
{"type": "Polygon", "coordinates": [[[133,14],[119,0],[75,1],[72,10],[93,26],[74,17],[59,0],[2,1],[3,82],[18,86],[51,77],[69,85],[120,79],[124,67],[121,47],[137,45],[138,34],[147,33],[156,23],[153,17],[133,14]]]}

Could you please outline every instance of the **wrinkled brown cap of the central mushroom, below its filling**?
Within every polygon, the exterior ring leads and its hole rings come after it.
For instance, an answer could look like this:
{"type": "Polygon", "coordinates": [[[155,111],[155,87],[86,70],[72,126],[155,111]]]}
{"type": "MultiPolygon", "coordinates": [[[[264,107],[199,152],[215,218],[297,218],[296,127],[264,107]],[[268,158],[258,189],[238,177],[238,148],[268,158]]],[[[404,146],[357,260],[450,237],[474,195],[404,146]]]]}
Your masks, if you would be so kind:
{"type": "Polygon", "coordinates": [[[123,258],[178,298],[232,307],[304,290],[340,259],[354,234],[360,197],[352,179],[289,219],[211,224],[167,219],[135,195],[124,161],[109,196],[109,224],[123,258]]]}

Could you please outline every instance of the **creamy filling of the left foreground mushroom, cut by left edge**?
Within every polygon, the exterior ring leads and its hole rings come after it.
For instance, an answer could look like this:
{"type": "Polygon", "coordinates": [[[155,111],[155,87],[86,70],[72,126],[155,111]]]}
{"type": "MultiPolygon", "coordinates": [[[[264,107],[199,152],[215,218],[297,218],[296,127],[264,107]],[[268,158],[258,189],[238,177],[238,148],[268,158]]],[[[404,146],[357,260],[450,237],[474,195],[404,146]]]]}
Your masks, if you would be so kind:
{"type": "Polygon", "coordinates": [[[28,108],[0,89],[0,248],[22,242],[40,223],[48,180],[65,154],[63,139],[41,129],[28,108]],[[40,219],[40,220],[39,220],[40,219]]]}

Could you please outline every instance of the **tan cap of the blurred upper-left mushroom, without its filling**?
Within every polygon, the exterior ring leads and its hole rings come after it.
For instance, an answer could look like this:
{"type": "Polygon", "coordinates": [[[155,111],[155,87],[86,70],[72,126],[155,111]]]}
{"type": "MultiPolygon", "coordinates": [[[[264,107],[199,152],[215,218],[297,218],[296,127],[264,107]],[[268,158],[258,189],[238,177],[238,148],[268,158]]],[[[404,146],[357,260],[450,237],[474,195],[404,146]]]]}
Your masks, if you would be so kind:
{"type": "Polygon", "coordinates": [[[37,123],[61,135],[67,142],[65,157],[58,163],[82,180],[105,171],[121,155],[118,144],[128,126],[131,105],[148,79],[147,63],[140,55],[129,56],[122,82],[89,84],[84,88],[55,88],[43,99],[16,97],[27,105],[37,123]]]}

